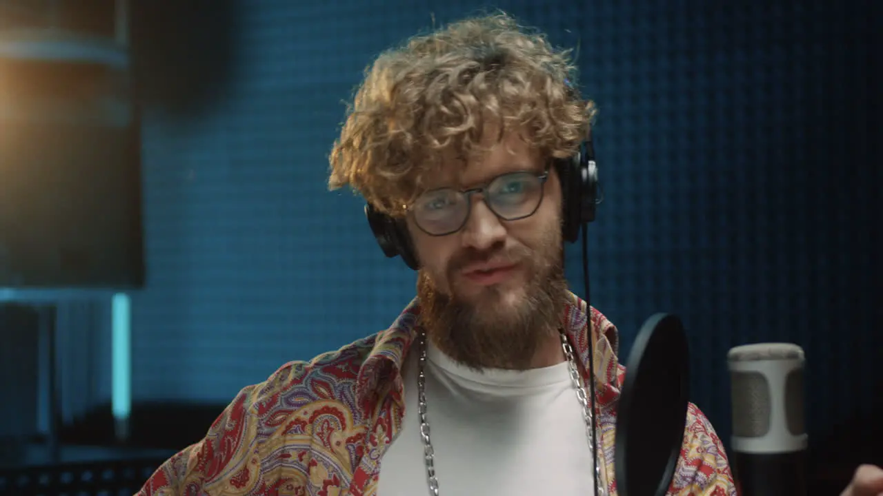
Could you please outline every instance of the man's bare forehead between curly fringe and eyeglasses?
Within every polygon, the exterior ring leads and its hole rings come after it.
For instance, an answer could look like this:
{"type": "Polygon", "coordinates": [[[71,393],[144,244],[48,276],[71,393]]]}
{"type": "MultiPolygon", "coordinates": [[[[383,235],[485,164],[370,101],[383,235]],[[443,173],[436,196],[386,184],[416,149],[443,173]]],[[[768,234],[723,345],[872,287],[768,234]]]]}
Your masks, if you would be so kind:
{"type": "Polygon", "coordinates": [[[518,170],[542,169],[540,150],[525,141],[517,132],[507,132],[502,139],[494,133],[483,142],[471,156],[454,150],[444,150],[439,167],[427,171],[421,185],[425,189],[444,186],[467,188],[485,184],[494,177],[518,170]]]}

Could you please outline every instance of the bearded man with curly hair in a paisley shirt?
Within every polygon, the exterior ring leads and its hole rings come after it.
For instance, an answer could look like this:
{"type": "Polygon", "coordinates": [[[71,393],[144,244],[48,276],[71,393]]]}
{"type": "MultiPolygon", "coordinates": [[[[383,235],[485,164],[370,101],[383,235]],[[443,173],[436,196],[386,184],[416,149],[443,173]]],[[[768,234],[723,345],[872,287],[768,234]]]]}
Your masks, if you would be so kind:
{"type": "MultiPolygon", "coordinates": [[[[417,298],[389,329],[245,387],[141,494],[615,494],[617,332],[562,270],[555,159],[593,114],[572,72],[504,15],[381,55],[330,185],[400,226],[417,298]]],[[[736,494],[695,405],[670,493],[736,494]]]]}

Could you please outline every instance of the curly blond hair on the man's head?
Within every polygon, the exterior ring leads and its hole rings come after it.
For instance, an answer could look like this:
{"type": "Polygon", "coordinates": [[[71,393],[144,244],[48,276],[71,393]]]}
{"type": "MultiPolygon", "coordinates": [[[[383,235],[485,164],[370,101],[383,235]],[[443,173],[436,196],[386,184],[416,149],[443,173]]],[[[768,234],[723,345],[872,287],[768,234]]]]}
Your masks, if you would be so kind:
{"type": "Polygon", "coordinates": [[[570,156],[595,110],[576,90],[575,69],[570,50],[504,13],[415,36],[366,70],[329,157],[328,186],[349,185],[396,215],[422,177],[446,165],[451,154],[442,152],[473,157],[487,129],[498,139],[517,129],[546,159],[570,156]]]}

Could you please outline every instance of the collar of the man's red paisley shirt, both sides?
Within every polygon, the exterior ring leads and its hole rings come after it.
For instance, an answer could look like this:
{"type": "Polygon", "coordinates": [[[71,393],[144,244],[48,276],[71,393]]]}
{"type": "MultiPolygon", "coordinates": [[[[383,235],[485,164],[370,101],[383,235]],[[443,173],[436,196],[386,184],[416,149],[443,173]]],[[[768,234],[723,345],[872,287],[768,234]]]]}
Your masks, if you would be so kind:
{"type": "MultiPolygon", "coordinates": [[[[404,356],[417,334],[419,314],[419,301],[414,298],[392,326],[377,334],[374,347],[358,372],[356,393],[359,404],[370,405],[378,395],[381,395],[385,387],[395,385],[394,391],[400,389],[399,372],[404,356]],[[392,381],[392,384],[389,384],[389,381],[392,381]]],[[[583,364],[584,371],[589,369],[587,314],[585,301],[569,292],[564,305],[564,330],[579,361],[583,364]]],[[[591,316],[595,389],[597,398],[603,405],[615,401],[622,387],[621,367],[616,357],[619,351],[619,332],[593,307],[591,316]]],[[[400,391],[397,396],[400,397],[400,391]]]]}

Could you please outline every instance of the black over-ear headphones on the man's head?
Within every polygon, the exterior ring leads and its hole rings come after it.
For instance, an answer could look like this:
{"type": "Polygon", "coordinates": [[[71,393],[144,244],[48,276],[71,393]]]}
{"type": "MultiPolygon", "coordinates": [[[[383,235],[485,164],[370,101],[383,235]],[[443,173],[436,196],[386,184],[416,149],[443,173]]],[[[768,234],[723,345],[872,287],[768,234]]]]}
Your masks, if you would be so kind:
{"type": "MultiPolygon", "coordinates": [[[[595,210],[602,199],[591,132],[576,154],[554,161],[562,191],[562,238],[574,243],[580,228],[595,220],[595,210]]],[[[419,261],[404,218],[383,214],[370,203],[365,206],[365,216],[383,254],[402,257],[405,265],[417,270],[419,261]]]]}

